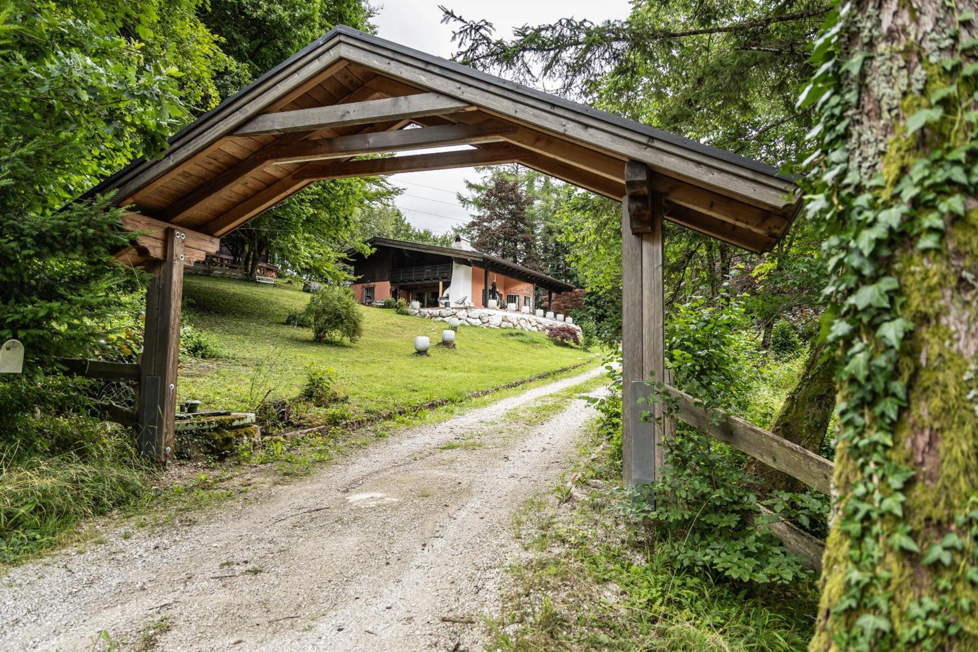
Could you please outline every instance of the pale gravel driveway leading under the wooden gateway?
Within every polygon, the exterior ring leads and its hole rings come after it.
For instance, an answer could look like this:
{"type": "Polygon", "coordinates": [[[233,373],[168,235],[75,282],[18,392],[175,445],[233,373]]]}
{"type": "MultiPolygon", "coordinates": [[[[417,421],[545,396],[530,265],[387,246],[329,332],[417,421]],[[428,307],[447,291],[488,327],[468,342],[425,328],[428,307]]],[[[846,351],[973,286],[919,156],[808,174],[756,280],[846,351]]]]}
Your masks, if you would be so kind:
{"type": "Polygon", "coordinates": [[[591,409],[521,427],[520,408],[598,373],[402,431],[200,524],[13,569],[0,650],[89,650],[101,631],[117,649],[473,649],[520,554],[511,516],[553,487],[591,409]]]}

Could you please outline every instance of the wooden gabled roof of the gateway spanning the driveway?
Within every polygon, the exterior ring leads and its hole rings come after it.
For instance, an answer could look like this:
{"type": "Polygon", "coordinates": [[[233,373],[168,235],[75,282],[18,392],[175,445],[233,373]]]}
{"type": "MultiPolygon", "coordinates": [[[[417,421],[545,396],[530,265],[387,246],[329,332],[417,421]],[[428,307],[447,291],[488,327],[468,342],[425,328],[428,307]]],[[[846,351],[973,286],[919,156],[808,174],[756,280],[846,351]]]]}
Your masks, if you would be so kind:
{"type": "Polygon", "coordinates": [[[612,199],[628,161],[667,219],[751,251],[799,200],[769,165],[338,26],[87,195],[221,236],[318,179],[523,163],[612,199]],[[405,128],[421,127],[421,128],[405,128]],[[448,144],[473,150],[355,160],[448,144]]]}

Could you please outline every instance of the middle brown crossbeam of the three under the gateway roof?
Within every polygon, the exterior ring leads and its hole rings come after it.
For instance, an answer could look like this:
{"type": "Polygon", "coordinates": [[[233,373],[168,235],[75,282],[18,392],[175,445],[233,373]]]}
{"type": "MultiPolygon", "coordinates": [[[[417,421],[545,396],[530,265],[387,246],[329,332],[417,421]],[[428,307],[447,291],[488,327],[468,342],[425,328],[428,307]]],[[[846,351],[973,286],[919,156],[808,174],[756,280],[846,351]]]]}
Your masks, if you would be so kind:
{"type": "Polygon", "coordinates": [[[495,142],[501,140],[503,135],[511,133],[514,128],[513,125],[498,120],[485,120],[475,124],[371,131],[321,140],[303,140],[288,145],[271,145],[262,154],[270,163],[304,163],[380,152],[495,142]]]}

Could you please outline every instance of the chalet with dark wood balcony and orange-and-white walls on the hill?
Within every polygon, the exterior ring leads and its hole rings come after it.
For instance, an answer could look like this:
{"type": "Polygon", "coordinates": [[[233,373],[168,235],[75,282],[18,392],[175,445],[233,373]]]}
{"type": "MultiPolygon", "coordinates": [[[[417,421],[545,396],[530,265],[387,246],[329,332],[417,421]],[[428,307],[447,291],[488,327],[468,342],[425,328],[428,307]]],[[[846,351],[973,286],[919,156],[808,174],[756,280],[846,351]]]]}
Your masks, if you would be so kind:
{"type": "MultiPolygon", "coordinates": [[[[486,307],[493,284],[499,307],[534,309],[539,291],[546,291],[548,307],[555,294],[574,286],[498,256],[476,252],[456,237],[453,247],[420,245],[401,240],[372,238],[374,253],[352,256],[352,285],[360,303],[379,303],[394,293],[422,307],[486,307]]],[[[543,307],[543,306],[541,306],[543,307]]]]}

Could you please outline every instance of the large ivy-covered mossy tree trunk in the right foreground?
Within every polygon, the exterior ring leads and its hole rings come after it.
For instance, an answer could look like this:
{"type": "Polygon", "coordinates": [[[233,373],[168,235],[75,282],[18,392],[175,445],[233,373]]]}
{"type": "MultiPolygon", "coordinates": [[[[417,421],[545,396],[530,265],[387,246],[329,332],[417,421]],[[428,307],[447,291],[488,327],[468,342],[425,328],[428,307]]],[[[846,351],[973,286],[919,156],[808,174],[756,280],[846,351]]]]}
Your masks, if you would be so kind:
{"type": "Polygon", "coordinates": [[[840,354],[810,649],[978,649],[975,0],[863,0],[816,43],[807,178],[840,354]]]}

